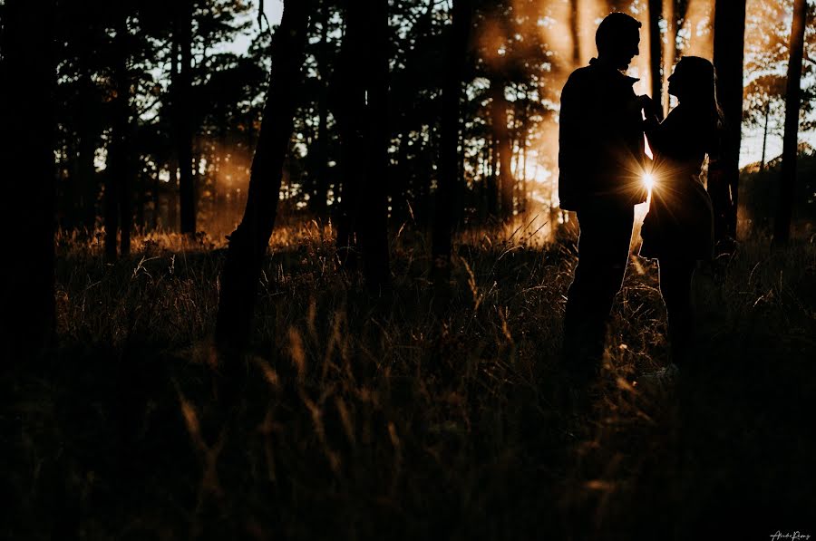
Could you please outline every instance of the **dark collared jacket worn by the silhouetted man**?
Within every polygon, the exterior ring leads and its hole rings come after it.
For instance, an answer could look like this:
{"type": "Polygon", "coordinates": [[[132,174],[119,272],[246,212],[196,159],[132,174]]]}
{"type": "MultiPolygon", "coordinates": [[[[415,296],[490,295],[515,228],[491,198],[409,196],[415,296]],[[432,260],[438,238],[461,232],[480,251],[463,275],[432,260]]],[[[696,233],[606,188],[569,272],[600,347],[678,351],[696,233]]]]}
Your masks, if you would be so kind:
{"type": "Polygon", "coordinates": [[[560,207],[646,201],[638,80],[593,58],[569,76],[559,121],[560,207]]]}

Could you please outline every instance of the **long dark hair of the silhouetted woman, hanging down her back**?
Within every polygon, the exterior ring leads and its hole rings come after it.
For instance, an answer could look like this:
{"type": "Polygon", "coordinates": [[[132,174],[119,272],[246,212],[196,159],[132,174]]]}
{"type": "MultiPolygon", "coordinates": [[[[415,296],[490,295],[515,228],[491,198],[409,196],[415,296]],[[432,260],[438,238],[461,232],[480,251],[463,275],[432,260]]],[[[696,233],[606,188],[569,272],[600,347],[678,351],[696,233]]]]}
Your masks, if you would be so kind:
{"type": "Polygon", "coordinates": [[[714,157],[719,154],[724,128],[723,111],[717,101],[717,76],[714,65],[699,56],[684,56],[677,67],[679,68],[681,64],[685,79],[684,103],[700,111],[706,119],[707,152],[709,157],[714,157]]]}

